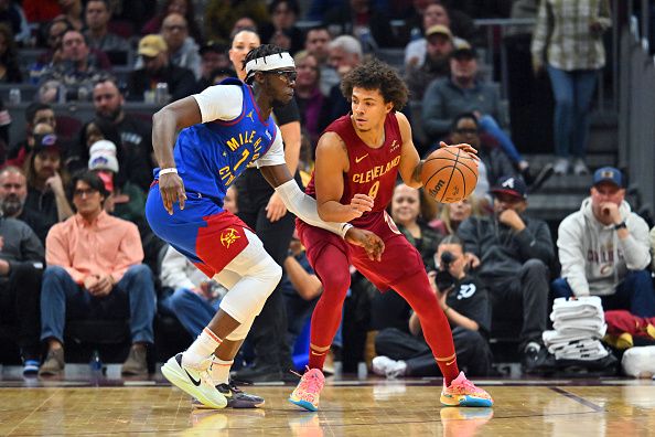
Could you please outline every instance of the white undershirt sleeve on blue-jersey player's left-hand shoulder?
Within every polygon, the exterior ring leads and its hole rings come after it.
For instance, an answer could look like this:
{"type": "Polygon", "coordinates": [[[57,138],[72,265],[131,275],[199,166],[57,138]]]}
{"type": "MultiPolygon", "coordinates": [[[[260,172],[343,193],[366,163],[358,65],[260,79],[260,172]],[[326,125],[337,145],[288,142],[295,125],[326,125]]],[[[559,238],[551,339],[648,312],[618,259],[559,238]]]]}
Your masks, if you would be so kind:
{"type": "Polygon", "coordinates": [[[237,85],[214,85],[194,94],[203,122],[234,120],[243,110],[244,93],[237,85]]]}

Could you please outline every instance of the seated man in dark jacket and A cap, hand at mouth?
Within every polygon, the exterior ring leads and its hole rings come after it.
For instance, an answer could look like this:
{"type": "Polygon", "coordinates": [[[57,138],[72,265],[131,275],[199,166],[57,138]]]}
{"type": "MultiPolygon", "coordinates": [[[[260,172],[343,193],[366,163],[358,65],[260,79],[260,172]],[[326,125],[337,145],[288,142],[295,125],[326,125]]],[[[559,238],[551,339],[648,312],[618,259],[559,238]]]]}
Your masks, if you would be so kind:
{"type": "Polygon", "coordinates": [[[546,222],[525,214],[527,189],[520,178],[500,178],[491,193],[494,214],[469,217],[458,235],[465,251],[482,260],[477,274],[488,287],[494,319],[520,317],[524,372],[540,373],[547,370],[541,333],[547,328],[549,266],[555,258],[550,231],[546,222]]]}

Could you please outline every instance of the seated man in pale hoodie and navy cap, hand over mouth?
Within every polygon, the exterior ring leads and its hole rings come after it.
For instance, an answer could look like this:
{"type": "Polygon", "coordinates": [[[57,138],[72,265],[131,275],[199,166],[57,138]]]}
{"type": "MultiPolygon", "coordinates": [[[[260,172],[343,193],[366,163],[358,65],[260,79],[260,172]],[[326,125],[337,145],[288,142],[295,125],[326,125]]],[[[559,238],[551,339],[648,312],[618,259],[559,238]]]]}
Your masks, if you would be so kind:
{"type": "Polygon", "coordinates": [[[648,225],[624,198],[621,171],[595,171],[591,196],[559,225],[561,278],[552,289],[556,297],[600,296],[605,310],[654,317],[648,225]]]}

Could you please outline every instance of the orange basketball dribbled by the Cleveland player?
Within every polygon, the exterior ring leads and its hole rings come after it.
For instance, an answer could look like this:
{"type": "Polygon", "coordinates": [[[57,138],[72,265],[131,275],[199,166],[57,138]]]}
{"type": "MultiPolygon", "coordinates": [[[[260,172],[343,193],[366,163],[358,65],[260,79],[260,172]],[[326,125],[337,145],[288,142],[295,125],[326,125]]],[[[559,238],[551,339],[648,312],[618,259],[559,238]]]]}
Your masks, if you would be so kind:
{"type": "Polygon", "coordinates": [[[423,162],[421,181],[426,192],[437,202],[459,202],[475,190],[477,161],[466,151],[442,147],[423,162]]]}

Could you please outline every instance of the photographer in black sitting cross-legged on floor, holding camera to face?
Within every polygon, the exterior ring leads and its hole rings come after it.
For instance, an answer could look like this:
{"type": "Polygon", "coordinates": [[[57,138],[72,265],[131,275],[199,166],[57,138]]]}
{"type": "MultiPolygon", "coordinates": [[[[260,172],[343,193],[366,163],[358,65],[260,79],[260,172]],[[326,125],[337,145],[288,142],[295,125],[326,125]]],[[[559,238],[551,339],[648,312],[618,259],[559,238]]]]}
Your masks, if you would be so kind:
{"type": "MultiPolygon", "coordinates": [[[[458,364],[466,374],[486,376],[492,353],[487,342],[491,329],[491,307],[483,285],[466,273],[466,257],[461,239],[444,237],[439,244],[436,262],[438,271],[429,274],[439,305],[453,327],[452,337],[458,364]]],[[[438,376],[439,369],[426,341],[416,313],[408,321],[409,332],[396,328],[382,330],[376,340],[378,353],[373,370],[387,377],[438,376]]]]}

